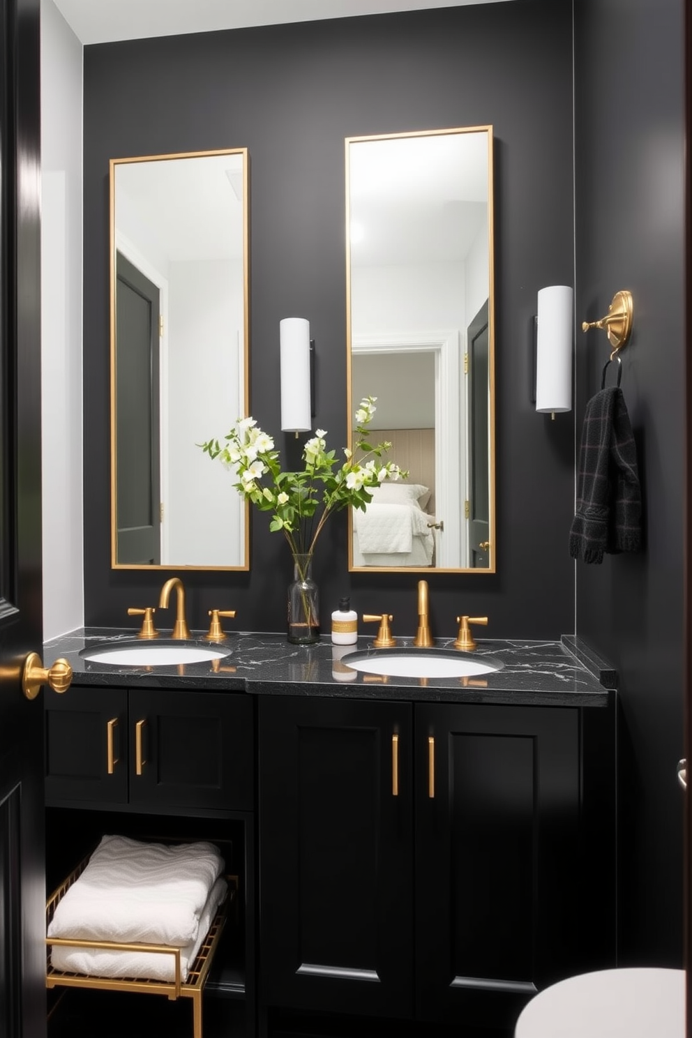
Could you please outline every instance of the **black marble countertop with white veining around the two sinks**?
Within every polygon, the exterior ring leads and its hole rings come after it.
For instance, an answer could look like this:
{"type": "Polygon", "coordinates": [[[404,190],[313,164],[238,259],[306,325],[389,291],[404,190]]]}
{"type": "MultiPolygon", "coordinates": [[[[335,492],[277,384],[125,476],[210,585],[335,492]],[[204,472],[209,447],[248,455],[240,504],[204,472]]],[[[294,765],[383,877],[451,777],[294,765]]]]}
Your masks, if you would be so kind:
{"type": "MultiPolygon", "coordinates": [[[[372,637],[353,646],[293,646],[283,634],[228,633],[222,643],[193,639],[227,653],[212,662],[163,666],[122,666],[92,662],[80,655],[102,643],[136,639],[136,630],[79,628],[45,645],[47,666],[64,657],[74,672],[73,686],[211,689],[273,695],[351,696],[467,703],[513,703],[533,706],[606,706],[616,674],[579,639],[560,641],[478,639],[474,659],[499,660],[502,668],[468,678],[394,678],[354,671],[342,662],[350,652],[372,652],[372,637]]],[[[165,638],[165,635],[162,635],[165,638]]],[[[142,639],[143,640],[143,639],[142,639]]],[[[436,649],[452,648],[452,638],[437,638],[436,649]]],[[[396,639],[411,648],[412,637],[396,639]]],[[[156,640],[145,641],[156,645],[156,640]]],[[[186,643],[190,644],[190,643],[186,643]]],[[[455,652],[455,650],[454,650],[455,652]]]]}

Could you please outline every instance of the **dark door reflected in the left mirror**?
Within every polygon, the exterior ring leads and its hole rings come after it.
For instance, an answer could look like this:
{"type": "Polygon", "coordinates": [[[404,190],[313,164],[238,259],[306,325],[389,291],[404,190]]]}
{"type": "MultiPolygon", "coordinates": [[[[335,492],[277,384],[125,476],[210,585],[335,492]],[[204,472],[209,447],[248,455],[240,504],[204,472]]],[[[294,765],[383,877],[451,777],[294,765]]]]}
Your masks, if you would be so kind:
{"type": "Polygon", "coordinates": [[[115,517],[120,566],[161,563],[159,290],[116,256],[115,517]]]}

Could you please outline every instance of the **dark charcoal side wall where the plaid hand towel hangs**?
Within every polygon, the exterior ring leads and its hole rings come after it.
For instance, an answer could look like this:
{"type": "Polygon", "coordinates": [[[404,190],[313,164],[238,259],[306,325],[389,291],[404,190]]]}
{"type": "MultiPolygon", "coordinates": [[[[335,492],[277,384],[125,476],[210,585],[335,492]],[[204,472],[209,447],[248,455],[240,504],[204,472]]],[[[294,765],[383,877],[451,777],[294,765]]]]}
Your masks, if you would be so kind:
{"type": "MultiPolygon", "coordinates": [[[[578,633],[620,674],[625,965],[677,966],[682,955],[684,6],[575,4],[577,319],[601,317],[619,289],[632,291],[635,307],[621,387],[645,546],[577,566],[578,633]]],[[[603,333],[580,337],[578,417],[608,357],[603,333]]]]}

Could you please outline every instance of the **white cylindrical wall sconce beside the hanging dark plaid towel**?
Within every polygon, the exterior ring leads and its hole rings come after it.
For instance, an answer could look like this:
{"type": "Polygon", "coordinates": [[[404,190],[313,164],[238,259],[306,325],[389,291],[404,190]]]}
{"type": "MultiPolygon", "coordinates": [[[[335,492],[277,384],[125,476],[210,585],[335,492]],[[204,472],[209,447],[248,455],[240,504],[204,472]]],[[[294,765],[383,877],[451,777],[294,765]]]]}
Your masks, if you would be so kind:
{"type": "Polygon", "coordinates": [[[536,318],[535,409],[572,410],[572,289],[551,284],[538,291],[536,318]]]}

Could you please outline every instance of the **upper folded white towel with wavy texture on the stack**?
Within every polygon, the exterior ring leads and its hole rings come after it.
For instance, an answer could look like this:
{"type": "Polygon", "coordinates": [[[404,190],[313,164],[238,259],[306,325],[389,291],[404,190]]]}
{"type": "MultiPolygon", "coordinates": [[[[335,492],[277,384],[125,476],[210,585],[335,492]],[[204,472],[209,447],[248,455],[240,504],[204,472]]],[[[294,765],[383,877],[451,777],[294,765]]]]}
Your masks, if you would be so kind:
{"type": "Polygon", "coordinates": [[[223,865],[211,843],[164,846],[106,836],[58,903],[48,936],[185,948],[197,938],[223,865]]]}

